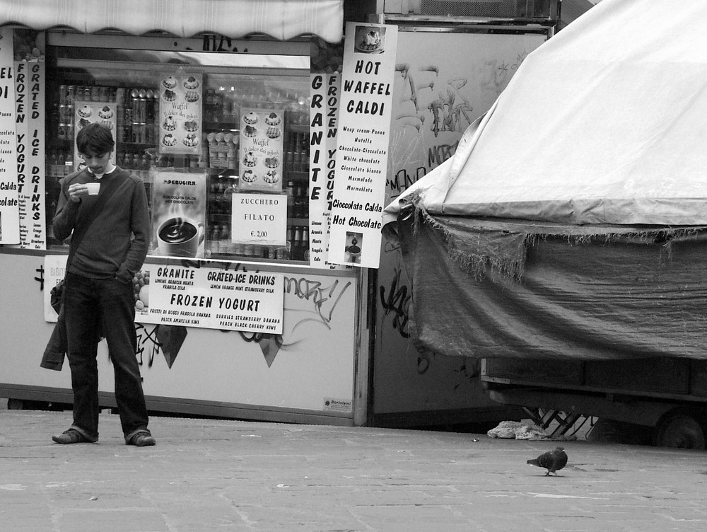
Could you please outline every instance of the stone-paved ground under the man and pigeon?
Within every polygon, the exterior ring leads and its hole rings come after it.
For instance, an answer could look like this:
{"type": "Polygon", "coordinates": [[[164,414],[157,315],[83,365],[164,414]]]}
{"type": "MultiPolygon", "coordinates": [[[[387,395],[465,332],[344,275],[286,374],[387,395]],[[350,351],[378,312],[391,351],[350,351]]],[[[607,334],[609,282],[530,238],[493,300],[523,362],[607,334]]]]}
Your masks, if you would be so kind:
{"type": "Polygon", "coordinates": [[[707,453],[366,427],[153,417],[153,447],[62,446],[69,412],[0,410],[0,530],[705,531],[707,453]]]}

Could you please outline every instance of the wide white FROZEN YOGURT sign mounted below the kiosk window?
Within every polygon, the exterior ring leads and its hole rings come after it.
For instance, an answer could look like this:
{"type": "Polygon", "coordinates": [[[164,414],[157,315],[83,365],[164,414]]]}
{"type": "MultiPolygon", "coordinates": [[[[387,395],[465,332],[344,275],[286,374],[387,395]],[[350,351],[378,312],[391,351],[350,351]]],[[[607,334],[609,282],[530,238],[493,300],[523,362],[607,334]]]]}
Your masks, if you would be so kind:
{"type": "Polygon", "coordinates": [[[146,264],[135,289],[139,323],[282,334],[283,274],[146,264]]]}

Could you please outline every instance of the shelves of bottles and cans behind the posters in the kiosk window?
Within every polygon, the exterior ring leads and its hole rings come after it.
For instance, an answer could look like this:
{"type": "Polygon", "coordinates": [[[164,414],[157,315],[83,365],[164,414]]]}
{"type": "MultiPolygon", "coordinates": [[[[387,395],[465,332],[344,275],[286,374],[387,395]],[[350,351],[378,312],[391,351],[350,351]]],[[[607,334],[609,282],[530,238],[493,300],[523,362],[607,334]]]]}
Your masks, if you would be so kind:
{"type": "MultiPolygon", "coordinates": [[[[51,94],[51,93],[50,93],[51,94]]],[[[160,154],[159,93],[149,88],[62,84],[50,96],[47,127],[47,222],[56,208],[59,180],[74,171],[74,103],[117,104],[115,163],[144,180],[148,197],[151,176],[161,170],[206,173],[206,238],[204,254],[235,258],[308,262],[309,255],[309,127],[299,108],[284,112],[283,188],[287,196],[286,245],[243,245],[230,241],[230,194],[238,190],[240,107],[218,91],[204,95],[201,154],[160,154]]],[[[255,105],[255,103],[254,103],[255,105]]],[[[55,243],[60,244],[60,243],[55,243]]]]}

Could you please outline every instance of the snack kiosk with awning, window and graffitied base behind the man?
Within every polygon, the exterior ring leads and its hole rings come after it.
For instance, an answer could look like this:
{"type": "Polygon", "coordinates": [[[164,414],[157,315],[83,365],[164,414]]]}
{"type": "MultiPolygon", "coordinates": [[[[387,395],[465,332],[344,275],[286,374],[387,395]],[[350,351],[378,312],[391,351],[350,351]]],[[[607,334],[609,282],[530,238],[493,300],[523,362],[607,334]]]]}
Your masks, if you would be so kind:
{"type": "MultiPolygon", "coordinates": [[[[343,2],[113,4],[0,2],[0,396],[71,403],[68,364],[40,369],[68,250],[51,220],[76,133],[100,122],[150,201],[134,278],[148,408],[363,424],[366,270],[309,253],[310,46],[341,41],[343,2]]],[[[105,342],[99,371],[113,407],[105,342]]]]}

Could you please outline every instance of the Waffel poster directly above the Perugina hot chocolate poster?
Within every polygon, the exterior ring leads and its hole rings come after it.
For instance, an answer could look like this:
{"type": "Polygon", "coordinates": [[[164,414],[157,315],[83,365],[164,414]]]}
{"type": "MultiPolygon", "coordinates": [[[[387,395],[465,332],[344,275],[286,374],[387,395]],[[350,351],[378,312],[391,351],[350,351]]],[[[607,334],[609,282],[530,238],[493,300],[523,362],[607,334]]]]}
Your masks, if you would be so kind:
{"type": "Polygon", "coordinates": [[[201,74],[172,74],[160,80],[162,154],[201,154],[201,74]]]}

